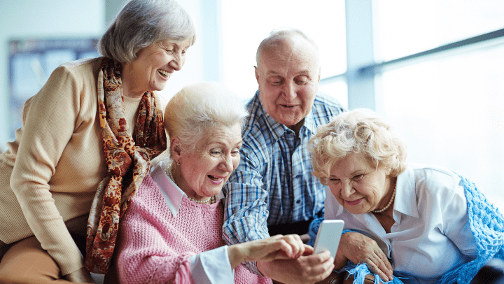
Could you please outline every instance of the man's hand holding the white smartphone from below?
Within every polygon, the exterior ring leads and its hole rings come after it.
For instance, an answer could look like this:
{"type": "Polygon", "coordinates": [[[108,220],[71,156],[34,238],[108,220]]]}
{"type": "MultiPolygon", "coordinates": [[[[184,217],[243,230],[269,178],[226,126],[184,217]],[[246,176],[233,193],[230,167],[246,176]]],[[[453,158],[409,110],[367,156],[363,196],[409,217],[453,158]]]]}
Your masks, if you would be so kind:
{"type": "Polygon", "coordinates": [[[322,281],[334,269],[334,259],[326,250],[313,254],[311,246],[305,246],[304,254],[295,259],[258,262],[259,271],[275,281],[285,284],[312,284],[322,281]]]}

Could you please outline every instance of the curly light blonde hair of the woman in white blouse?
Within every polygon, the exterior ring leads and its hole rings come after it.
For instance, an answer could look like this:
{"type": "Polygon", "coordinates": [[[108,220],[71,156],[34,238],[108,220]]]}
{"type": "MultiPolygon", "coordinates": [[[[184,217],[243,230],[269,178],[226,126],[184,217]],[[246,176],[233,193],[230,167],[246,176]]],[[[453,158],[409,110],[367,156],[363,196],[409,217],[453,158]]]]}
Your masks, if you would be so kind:
{"type": "Polygon", "coordinates": [[[375,167],[391,169],[393,177],[406,169],[405,141],[373,111],[362,108],[341,113],[316,131],[308,149],[314,176],[323,184],[332,166],[351,152],[362,153],[375,167]]]}

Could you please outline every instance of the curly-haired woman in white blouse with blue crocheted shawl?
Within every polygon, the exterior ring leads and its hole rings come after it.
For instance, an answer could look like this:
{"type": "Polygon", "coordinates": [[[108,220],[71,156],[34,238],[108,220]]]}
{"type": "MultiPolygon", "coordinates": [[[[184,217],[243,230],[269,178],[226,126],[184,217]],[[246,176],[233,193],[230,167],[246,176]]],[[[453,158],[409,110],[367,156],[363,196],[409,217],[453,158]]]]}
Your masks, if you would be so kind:
{"type": "Polygon", "coordinates": [[[350,260],[354,283],[371,272],[393,283],[468,283],[491,257],[504,257],[502,215],[458,174],[407,164],[405,142],[376,113],[337,115],[317,129],[309,149],[314,175],[328,185],[325,219],[344,220],[381,249],[339,244],[335,267],[350,260]],[[384,263],[402,278],[379,269],[384,263]]]}

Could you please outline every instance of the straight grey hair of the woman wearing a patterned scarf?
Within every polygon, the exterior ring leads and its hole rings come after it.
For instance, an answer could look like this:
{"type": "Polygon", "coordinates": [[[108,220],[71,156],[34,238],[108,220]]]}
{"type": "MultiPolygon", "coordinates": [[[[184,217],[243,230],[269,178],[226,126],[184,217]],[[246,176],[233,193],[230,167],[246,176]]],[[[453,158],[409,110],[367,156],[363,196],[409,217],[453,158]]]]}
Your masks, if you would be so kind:
{"type": "Polygon", "coordinates": [[[193,20],[174,0],[131,0],[120,10],[98,43],[116,62],[132,62],[137,52],[159,41],[195,41],[193,20]]]}

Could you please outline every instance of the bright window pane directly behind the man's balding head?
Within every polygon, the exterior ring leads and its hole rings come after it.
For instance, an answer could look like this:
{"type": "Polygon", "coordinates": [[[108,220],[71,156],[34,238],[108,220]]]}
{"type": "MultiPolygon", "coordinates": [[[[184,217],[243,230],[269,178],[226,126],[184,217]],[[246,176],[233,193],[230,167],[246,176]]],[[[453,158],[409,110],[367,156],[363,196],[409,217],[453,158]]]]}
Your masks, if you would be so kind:
{"type": "Polygon", "coordinates": [[[221,1],[223,82],[242,98],[257,90],[255,52],[270,31],[302,30],[318,45],[322,78],[346,71],[344,1],[221,1]]]}

